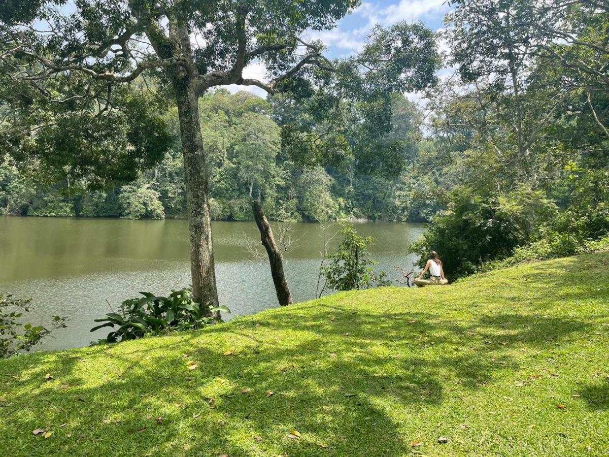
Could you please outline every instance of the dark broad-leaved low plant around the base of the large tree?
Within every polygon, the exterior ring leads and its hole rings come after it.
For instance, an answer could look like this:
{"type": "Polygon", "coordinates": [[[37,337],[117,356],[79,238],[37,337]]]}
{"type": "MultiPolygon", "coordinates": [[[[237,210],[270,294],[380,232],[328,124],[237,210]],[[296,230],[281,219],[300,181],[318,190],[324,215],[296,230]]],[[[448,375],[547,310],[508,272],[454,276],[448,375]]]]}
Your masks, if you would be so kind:
{"type": "Polygon", "coordinates": [[[158,297],[150,292],[139,292],[141,298],[127,299],[122,302],[118,313],[107,313],[95,322],[104,322],[91,328],[91,331],[111,327],[98,343],[119,342],[158,335],[167,331],[194,330],[213,324],[211,314],[216,311],[230,313],[226,306],[204,306],[192,300],[188,289],[172,290],[168,297],[158,297]]]}

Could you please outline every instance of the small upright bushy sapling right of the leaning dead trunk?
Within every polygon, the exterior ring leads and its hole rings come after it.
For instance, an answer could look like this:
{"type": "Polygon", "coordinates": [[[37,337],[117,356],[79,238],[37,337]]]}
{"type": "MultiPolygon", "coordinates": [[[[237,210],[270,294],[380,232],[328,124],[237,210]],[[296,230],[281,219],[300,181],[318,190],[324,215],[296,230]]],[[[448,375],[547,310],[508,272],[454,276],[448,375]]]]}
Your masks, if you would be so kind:
{"type": "Polygon", "coordinates": [[[335,252],[324,256],[329,263],[322,265],[320,269],[326,280],[322,293],[326,288],[350,291],[390,285],[384,271],[377,273],[372,268],[378,265],[378,262],[370,257],[368,246],[374,243],[375,239],[357,235],[351,224],[343,224],[339,233],[343,236],[342,241],[335,252]]]}

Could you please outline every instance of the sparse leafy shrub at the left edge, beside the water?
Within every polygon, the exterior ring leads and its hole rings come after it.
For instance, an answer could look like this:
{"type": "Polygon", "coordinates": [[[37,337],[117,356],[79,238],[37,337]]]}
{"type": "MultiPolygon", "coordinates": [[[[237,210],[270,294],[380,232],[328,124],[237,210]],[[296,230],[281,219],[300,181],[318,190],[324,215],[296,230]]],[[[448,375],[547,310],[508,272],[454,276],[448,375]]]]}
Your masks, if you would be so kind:
{"type": "Polygon", "coordinates": [[[19,322],[23,313],[33,310],[32,300],[13,299],[0,294],[0,358],[29,351],[56,328],[66,327],[66,317],[53,316],[51,327],[19,322]]]}

